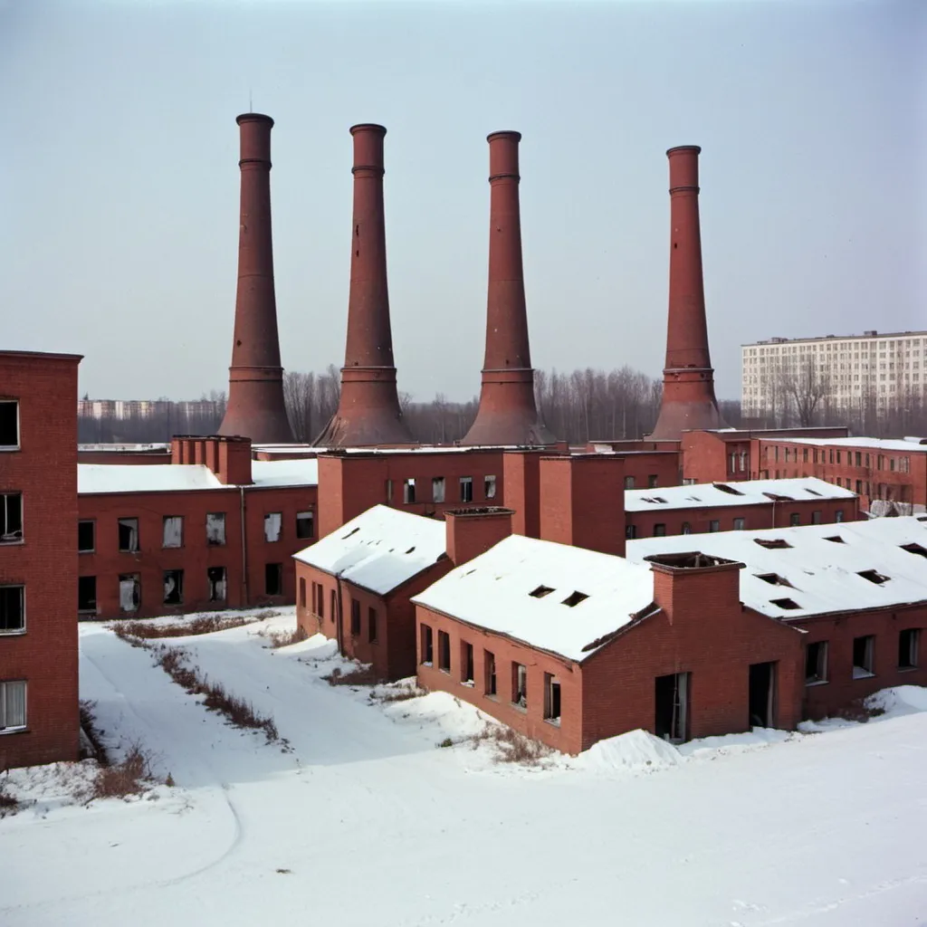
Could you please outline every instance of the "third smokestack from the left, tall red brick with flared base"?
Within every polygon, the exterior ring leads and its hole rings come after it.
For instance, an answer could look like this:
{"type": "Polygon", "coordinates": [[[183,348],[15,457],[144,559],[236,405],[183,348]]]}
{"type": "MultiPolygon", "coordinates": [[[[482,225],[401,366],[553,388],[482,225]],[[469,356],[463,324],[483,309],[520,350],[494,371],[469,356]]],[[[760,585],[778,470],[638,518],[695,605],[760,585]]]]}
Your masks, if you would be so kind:
{"type": "Polygon", "coordinates": [[[486,359],[476,421],[462,444],[548,445],[534,401],[518,208],[517,132],[489,135],[489,293],[486,359]]]}

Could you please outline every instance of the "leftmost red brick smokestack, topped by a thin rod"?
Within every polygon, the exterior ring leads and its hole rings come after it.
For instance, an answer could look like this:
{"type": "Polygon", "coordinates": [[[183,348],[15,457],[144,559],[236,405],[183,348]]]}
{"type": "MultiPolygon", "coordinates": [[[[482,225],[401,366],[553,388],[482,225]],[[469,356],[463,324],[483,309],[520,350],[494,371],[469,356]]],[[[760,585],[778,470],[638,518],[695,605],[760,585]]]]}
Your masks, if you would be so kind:
{"type": "Polygon", "coordinates": [[[241,127],[238,292],[229,397],[219,434],[240,435],[256,443],[286,444],[293,440],[293,431],[284,405],[284,372],[273,295],[273,120],[260,113],[244,113],[236,122],[241,127]]]}

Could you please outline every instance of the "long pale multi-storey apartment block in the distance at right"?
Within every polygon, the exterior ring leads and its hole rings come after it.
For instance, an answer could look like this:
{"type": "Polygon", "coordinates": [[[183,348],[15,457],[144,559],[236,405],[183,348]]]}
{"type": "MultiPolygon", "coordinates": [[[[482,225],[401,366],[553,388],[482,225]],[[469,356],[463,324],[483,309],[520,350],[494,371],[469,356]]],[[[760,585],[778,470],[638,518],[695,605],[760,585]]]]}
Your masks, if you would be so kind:
{"type": "MultiPolygon", "coordinates": [[[[927,331],[770,338],[742,346],[743,415],[760,418],[819,390],[846,412],[927,400],[927,331]]],[[[807,424],[807,423],[806,423],[807,424]]]]}

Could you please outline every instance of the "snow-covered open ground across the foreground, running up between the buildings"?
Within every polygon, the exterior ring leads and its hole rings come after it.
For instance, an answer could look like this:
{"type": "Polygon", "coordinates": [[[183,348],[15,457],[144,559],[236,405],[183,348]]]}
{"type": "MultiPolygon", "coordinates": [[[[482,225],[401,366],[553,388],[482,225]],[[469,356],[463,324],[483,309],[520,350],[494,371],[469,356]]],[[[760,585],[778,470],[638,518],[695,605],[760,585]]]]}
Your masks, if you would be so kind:
{"type": "Polygon", "coordinates": [[[681,751],[635,732],[526,767],[465,741],[485,721],[451,696],[373,703],[323,679],[330,642],[258,633],[293,623],[165,641],[284,746],[81,626],[105,741],[176,785],[84,806],[61,783],[87,764],[11,773],[32,804],[0,820],[0,924],[927,925],[924,690],[867,724],[681,751]]]}

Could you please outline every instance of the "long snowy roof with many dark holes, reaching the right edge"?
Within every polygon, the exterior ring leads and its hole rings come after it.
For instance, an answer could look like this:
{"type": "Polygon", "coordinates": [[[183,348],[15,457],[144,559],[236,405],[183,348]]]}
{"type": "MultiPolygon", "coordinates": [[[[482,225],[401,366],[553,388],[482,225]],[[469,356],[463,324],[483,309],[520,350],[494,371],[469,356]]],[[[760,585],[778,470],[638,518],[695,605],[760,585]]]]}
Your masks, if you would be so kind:
{"type": "Polygon", "coordinates": [[[627,544],[628,558],[635,563],[654,553],[686,551],[746,564],[741,601],[786,621],[927,602],[927,515],[643,538],[627,544]]]}

